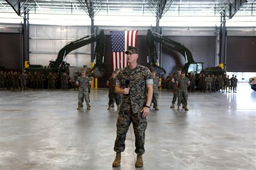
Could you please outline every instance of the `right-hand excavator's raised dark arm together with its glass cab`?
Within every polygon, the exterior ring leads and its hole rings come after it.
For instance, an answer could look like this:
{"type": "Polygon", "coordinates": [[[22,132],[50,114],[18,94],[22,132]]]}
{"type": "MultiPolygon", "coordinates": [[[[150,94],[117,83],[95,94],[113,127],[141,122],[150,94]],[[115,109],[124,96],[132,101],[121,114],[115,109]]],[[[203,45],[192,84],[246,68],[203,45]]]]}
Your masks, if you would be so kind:
{"type": "Polygon", "coordinates": [[[184,70],[186,72],[189,72],[190,69],[196,70],[196,72],[200,72],[200,71],[198,71],[198,68],[200,68],[200,70],[203,69],[203,63],[195,62],[190,50],[187,49],[183,44],[181,44],[179,42],[173,41],[173,40],[166,38],[164,36],[161,36],[161,35],[160,35],[160,37],[154,36],[150,29],[147,30],[146,41],[147,41],[147,47],[149,49],[149,55],[150,55],[152,63],[155,62],[158,58],[157,53],[156,53],[155,42],[159,42],[160,44],[165,45],[166,47],[172,48],[184,56],[184,58],[186,60],[184,70]],[[192,69],[192,67],[193,67],[193,69],[192,69]]]}

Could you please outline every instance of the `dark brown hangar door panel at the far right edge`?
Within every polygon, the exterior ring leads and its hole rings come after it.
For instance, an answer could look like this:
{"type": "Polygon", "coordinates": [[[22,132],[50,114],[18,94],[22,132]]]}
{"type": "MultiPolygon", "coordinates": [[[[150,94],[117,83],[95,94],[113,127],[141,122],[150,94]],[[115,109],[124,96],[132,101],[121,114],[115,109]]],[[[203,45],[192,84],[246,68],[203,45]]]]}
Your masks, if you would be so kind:
{"type": "Polygon", "coordinates": [[[256,37],[227,37],[227,72],[256,72],[256,37]]]}

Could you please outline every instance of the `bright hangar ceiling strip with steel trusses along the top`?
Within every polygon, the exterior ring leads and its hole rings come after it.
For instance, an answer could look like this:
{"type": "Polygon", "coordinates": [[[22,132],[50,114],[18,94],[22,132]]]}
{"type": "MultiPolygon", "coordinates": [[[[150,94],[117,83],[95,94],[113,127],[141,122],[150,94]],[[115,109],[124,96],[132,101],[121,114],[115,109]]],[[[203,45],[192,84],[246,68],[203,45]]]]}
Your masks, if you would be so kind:
{"type": "MultiPolygon", "coordinates": [[[[28,13],[50,13],[89,16],[220,16],[230,12],[235,0],[9,0],[0,1],[0,12],[14,12],[24,17],[28,13]],[[14,9],[12,9],[12,6],[14,9]]],[[[241,0],[244,5],[236,16],[255,16],[256,1],[241,0]]],[[[232,11],[231,11],[232,12],[232,11]]]]}

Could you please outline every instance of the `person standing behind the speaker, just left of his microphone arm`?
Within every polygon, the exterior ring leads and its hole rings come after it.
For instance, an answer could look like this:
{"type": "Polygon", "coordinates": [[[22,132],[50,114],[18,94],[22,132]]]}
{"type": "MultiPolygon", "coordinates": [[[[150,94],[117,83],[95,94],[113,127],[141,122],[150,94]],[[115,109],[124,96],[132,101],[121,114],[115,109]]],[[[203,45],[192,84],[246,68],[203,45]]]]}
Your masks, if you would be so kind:
{"type": "Polygon", "coordinates": [[[121,103],[121,97],[116,93],[116,81],[117,81],[117,72],[113,71],[112,76],[107,80],[106,86],[109,87],[109,107],[107,110],[110,110],[111,105],[116,101],[117,110],[119,110],[119,104],[121,103]]]}

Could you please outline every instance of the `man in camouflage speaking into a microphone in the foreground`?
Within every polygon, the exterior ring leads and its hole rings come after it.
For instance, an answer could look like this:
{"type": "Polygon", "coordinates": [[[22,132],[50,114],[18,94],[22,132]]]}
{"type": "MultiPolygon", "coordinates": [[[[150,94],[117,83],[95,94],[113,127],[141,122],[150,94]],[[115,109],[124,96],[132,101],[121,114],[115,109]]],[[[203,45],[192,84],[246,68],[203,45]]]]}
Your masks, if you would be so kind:
{"type": "Polygon", "coordinates": [[[138,48],[129,46],[125,54],[127,54],[129,66],[121,70],[116,82],[117,93],[124,95],[117,118],[117,137],[114,143],[116,159],[114,159],[112,166],[120,166],[121,152],[125,150],[126,133],[132,122],[135,135],[135,152],[137,153],[135,167],[142,167],[142,154],[145,153],[145,131],[147,128],[146,116],[150,112],[153,80],[150,69],[137,63],[138,48]]]}

